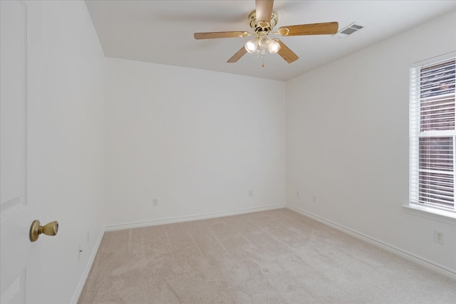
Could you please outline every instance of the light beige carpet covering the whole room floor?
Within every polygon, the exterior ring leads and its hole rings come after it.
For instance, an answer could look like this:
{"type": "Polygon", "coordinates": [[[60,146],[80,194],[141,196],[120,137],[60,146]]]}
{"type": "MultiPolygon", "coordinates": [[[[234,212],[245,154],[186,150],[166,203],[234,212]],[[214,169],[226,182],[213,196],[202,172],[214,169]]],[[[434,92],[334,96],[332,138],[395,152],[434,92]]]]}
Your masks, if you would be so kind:
{"type": "Polygon", "coordinates": [[[278,209],[106,232],[86,303],[456,303],[456,280],[278,209]]]}

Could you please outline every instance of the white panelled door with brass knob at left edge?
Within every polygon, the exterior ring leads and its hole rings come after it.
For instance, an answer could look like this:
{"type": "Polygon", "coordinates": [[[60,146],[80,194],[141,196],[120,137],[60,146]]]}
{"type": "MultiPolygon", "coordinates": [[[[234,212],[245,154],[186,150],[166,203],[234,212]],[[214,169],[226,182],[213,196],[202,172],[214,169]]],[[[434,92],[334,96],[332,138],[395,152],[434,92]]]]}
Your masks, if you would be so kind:
{"type": "Polygon", "coordinates": [[[40,303],[39,240],[28,236],[39,209],[26,196],[26,4],[0,0],[0,14],[0,303],[40,303]]]}

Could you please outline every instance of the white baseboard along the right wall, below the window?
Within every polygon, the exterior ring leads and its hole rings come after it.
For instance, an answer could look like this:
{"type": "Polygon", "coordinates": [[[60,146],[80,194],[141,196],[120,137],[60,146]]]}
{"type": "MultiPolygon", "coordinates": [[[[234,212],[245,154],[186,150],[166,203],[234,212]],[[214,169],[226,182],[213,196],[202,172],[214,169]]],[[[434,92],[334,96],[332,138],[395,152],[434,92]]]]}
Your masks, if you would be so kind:
{"type": "Polygon", "coordinates": [[[403,251],[402,249],[396,248],[395,246],[391,246],[388,243],[383,243],[382,241],[378,241],[377,239],[371,238],[371,236],[366,236],[365,234],[361,234],[358,231],[354,231],[353,229],[349,229],[345,226],[336,224],[332,221],[328,221],[327,219],[323,219],[320,216],[316,216],[315,214],[311,214],[310,212],[304,211],[302,209],[299,209],[295,206],[290,206],[290,205],[285,205],[286,209],[290,209],[291,211],[296,211],[299,214],[302,214],[304,216],[308,216],[311,219],[315,219],[316,221],[319,221],[323,224],[326,224],[328,226],[333,227],[334,229],[337,229],[339,231],[345,232],[346,234],[350,234],[351,236],[355,236],[358,239],[362,239],[363,241],[367,241],[368,243],[371,243],[375,246],[378,246],[380,248],[383,248],[387,251],[390,251],[391,253],[395,253],[398,256],[402,256],[403,258],[408,259],[409,261],[413,261],[415,263],[420,264],[421,266],[425,266],[426,268],[430,268],[433,271],[436,271],[438,273],[441,273],[442,275],[448,276],[450,278],[456,279],[456,272],[452,271],[449,268],[446,268],[445,266],[438,265],[436,263],[433,263],[431,261],[428,261],[425,258],[421,258],[420,256],[415,256],[412,253],[409,253],[407,251],[403,251]]]}

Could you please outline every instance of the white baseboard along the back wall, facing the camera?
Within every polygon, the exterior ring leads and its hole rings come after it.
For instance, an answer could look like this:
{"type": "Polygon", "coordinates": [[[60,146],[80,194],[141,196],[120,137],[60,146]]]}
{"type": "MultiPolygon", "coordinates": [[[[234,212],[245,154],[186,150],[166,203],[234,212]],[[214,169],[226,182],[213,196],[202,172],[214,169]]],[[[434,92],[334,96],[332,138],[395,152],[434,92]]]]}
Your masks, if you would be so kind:
{"type": "Polygon", "coordinates": [[[222,216],[248,214],[248,213],[252,213],[252,212],[267,211],[267,210],[282,209],[282,208],[285,208],[284,204],[264,206],[264,207],[255,207],[255,208],[249,208],[249,209],[238,209],[238,210],[216,212],[216,213],[210,213],[210,214],[198,214],[195,216],[182,216],[182,217],[174,217],[174,218],[168,218],[168,219],[157,219],[157,220],[152,220],[152,221],[137,221],[134,223],[108,225],[108,226],[105,226],[105,231],[115,231],[115,230],[121,230],[121,229],[132,229],[132,228],[139,228],[139,227],[146,227],[146,226],[180,223],[183,221],[197,221],[199,219],[213,219],[213,218],[222,217],[222,216]]]}

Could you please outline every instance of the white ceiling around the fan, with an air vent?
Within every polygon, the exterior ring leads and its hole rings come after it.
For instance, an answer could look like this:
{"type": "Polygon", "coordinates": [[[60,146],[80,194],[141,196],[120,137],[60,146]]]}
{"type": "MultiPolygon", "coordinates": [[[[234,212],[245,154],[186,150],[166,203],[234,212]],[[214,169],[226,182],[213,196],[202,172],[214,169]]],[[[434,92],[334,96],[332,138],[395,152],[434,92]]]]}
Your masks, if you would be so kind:
{"type": "MultiPolygon", "coordinates": [[[[227,60],[249,37],[195,40],[193,33],[249,31],[254,0],[86,0],[105,56],[177,65],[274,80],[289,80],[420,23],[456,10],[456,1],[297,1],[275,0],[280,26],[337,21],[364,26],[346,38],[332,35],[280,37],[299,59],[286,63],[278,54],[247,53],[227,60]]],[[[252,37],[250,37],[252,38],[252,37]]],[[[272,37],[274,38],[274,37],[272,37]]]]}

